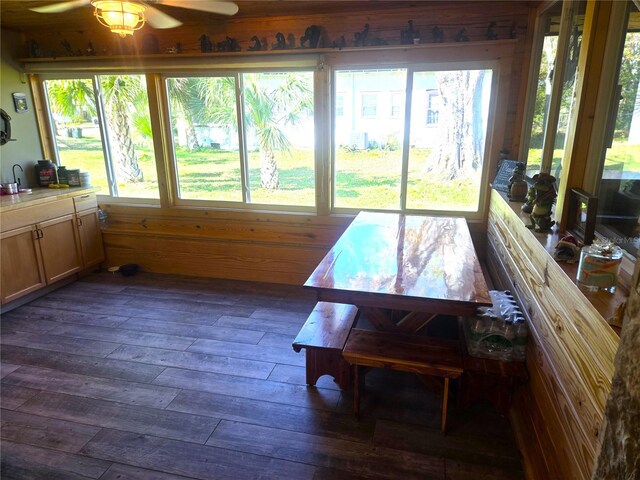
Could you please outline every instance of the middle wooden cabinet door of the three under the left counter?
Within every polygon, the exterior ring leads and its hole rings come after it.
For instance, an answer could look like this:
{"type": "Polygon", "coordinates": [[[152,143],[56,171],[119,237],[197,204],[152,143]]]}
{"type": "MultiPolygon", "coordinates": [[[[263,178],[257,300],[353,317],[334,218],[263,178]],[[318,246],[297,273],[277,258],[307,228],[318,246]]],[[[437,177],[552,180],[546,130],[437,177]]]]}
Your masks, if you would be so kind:
{"type": "Polygon", "coordinates": [[[52,283],[80,271],[82,261],[75,215],[64,215],[38,227],[42,263],[47,283],[52,283]]]}

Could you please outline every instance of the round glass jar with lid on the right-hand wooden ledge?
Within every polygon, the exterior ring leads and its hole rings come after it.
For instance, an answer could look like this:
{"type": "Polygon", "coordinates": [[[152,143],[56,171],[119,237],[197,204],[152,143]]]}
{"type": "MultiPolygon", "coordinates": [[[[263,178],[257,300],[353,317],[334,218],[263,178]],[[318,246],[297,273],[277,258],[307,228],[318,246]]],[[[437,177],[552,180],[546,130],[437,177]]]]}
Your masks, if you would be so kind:
{"type": "Polygon", "coordinates": [[[613,293],[618,283],[622,249],[611,242],[594,242],[580,250],[578,286],[587,291],[613,293]]]}

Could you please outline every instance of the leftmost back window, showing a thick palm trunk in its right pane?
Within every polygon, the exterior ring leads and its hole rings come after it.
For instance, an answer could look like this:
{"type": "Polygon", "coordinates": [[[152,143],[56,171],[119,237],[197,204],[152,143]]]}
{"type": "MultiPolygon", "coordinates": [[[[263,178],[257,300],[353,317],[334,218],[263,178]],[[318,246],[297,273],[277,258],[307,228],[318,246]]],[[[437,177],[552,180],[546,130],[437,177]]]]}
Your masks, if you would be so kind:
{"type": "Polygon", "coordinates": [[[159,198],[144,76],[100,75],[44,85],[59,164],[89,172],[100,194],[159,198]]]}

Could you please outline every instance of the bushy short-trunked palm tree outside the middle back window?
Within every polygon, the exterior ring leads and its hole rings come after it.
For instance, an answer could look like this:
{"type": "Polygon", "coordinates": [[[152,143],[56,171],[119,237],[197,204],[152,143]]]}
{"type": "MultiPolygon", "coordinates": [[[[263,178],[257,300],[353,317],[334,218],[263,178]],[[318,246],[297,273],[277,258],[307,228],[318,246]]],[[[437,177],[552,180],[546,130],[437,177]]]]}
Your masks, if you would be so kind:
{"type": "MultiPolygon", "coordinates": [[[[279,187],[276,152],[288,151],[291,142],[284,131],[313,109],[308,77],[296,73],[243,74],[243,111],[245,128],[254,128],[260,151],[260,183],[263,188],[279,187]]],[[[235,81],[232,77],[214,77],[203,84],[203,98],[210,121],[236,125],[235,81]]]]}

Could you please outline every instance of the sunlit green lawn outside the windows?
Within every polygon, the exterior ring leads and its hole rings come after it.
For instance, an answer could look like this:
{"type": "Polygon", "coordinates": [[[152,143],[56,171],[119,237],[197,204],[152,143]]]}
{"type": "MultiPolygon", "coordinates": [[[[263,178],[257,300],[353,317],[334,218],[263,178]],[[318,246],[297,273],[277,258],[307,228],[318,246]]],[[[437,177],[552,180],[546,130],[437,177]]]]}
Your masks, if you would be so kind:
{"type": "MultiPolygon", "coordinates": [[[[144,173],[140,183],[118,183],[122,197],[158,198],[158,181],[151,150],[138,146],[138,163],[144,173]]],[[[80,168],[91,174],[92,184],[108,194],[100,141],[95,138],[59,138],[58,149],[67,168],[80,168]]],[[[177,149],[180,196],[184,199],[242,201],[238,152],[177,149]]],[[[473,211],[477,208],[480,175],[443,181],[426,170],[428,149],[410,153],[407,207],[412,209],[473,211]]],[[[530,152],[530,165],[540,158],[540,150],[530,152]]],[[[258,152],[249,152],[249,185],[252,203],[313,206],[315,175],[313,151],[297,149],[277,154],[280,188],[260,187],[258,152]]],[[[559,165],[560,159],[554,160],[559,165]]],[[[397,209],[400,198],[400,150],[347,151],[337,155],[336,206],[346,208],[397,209]]],[[[640,145],[615,144],[606,165],[640,172],[640,145]]],[[[533,167],[535,168],[535,167],[533,167]]],[[[555,168],[555,167],[554,167],[555,168]]]]}

